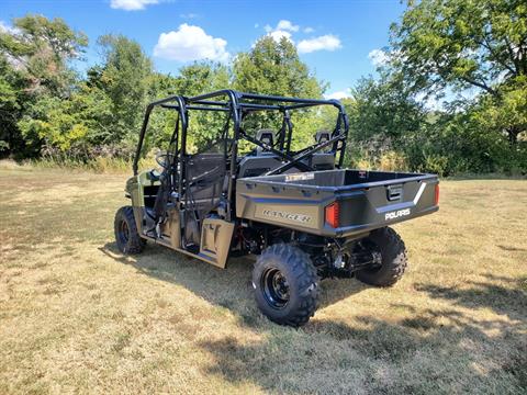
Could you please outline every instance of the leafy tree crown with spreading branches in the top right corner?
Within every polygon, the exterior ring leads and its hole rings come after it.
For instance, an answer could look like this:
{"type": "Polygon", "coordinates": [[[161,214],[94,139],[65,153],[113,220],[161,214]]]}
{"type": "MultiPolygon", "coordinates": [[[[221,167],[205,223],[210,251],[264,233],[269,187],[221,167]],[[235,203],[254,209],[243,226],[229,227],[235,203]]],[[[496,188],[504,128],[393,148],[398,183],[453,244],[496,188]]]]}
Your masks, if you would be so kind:
{"type": "MultiPolygon", "coordinates": [[[[527,76],[526,20],[523,0],[411,1],[402,22],[392,26],[391,66],[414,91],[475,88],[492,106],[508,106],[511,91],[527,94],[520,88],[527,76]]],[[[516,117],[494,126],[503,127],[513,145],[526,131],[516,117]]]]}

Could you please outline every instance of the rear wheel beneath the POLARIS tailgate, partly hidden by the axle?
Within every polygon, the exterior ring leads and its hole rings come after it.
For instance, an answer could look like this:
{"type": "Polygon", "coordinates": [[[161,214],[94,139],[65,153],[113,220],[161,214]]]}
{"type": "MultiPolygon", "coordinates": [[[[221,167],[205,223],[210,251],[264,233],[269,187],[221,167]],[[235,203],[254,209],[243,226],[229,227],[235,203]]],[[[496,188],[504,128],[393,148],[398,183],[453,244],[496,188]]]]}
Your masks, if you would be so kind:
{"type": "Polygon", "coordinates": [[[406,247],[401,236],[390,227],[373,230],[362,241],[371,252],[379,253],[381,264],[356,273],[358,280],[377,286],[391,286],[404,274],[408,263],[406,247]]]}

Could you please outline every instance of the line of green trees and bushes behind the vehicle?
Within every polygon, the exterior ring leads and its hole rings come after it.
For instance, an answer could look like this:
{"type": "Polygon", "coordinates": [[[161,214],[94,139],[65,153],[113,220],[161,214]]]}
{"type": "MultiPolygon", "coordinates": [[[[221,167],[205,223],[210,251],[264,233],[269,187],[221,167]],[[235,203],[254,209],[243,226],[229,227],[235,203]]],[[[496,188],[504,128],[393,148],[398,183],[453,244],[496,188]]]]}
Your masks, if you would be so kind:
{"type": "MultiPolygon", "coordinates": [[[[527,172],[527,4],[410,2],[390,33],[377,76],[343,100],[347,165],[444,176],[527,172]]],[[[136,42],[114,34],[98,38],[97,63],[79,72],[87,47],[86,35],[60,19],[29,14],[0,31],[0,156],[130,160],[145,106],[161,97],[233,88],[322,98],[327,90],[287,38],[264,36],[229,65],[194,63],[177,76],[156,71],[136,42]]],[[[296,114],[296,142],[330,119],[329,110],[296,114]]],[[[191,121],[197,147],[221,123],[209,114],[191,121]]],[[[147,145],[161,146],[173,122],[154,116],[147,145]]],[[[254,125],[279,126],[272,117],[254,125]]]]}

